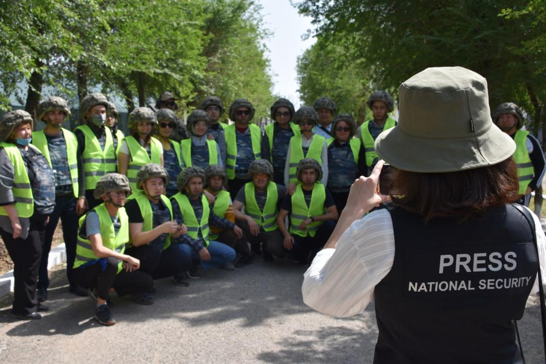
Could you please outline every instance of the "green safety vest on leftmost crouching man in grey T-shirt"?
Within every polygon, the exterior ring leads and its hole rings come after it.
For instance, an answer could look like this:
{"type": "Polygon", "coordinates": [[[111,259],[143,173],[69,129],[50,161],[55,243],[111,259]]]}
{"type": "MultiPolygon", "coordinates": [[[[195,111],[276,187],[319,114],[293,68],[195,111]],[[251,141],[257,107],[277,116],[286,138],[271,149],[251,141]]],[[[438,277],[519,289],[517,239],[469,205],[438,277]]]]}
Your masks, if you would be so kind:
{"type": "MultiPolygon", "coordinates": [[[[102,238],[103,246],[105,248],[115,250],[116,252],[123,254],[125,251],[125,244],[129,241],[129,218],[127,217],[127,212],[125,212],[124,207],[120,207],[117,210],[117,216],[120,219],[120,230],[115,234],[114,224],[110,218],[106,206],[100,204],[93,208],[100,220],[100,237],[102,238]]],[[[91,210],[91,211],[93,211],[91,210]]],[[[80,217],[79,226],[84,224],[87,214],[80,217]]],[[[87,262],[100,259],[97,255],[93,253],[93,248],[91,246],[91,241],[82,238],[78,234],[78,242],[76,243],[76,259],[74,260],[74,268],[78,268],[80,265],[84,265],[87,262]]],[[[118,260],[117,262],[117,273],[121,272],[123,267],[123,261],[118,260]]]]}

